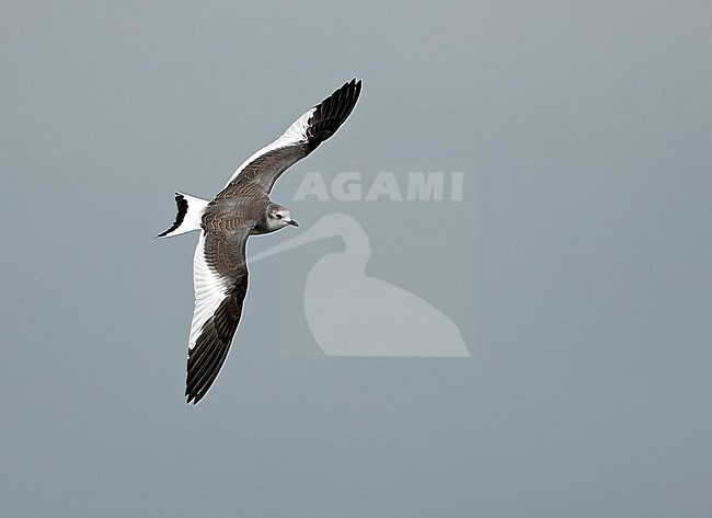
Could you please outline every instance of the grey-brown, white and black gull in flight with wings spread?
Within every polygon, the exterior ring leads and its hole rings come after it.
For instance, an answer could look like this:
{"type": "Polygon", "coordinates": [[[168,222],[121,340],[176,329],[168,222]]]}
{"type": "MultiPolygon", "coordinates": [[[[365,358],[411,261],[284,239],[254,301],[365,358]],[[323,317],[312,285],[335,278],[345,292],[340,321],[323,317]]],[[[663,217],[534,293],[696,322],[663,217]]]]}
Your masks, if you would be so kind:
{"type": "Polygon", "coordinates": [[[356,106],[360,91],[360,80],[353,79],[309,110],[274,142],[245,160],[211,200],[175,193],[175,221],[157,238],[200,231],[193,258],[195,310],[185,382],[188,404],[197,404],[213,385],[240,323],[248,292],[248,238],[299,227],[286,207],[269,199],[272,187],[290,165],[334,135],[356,106]]]}

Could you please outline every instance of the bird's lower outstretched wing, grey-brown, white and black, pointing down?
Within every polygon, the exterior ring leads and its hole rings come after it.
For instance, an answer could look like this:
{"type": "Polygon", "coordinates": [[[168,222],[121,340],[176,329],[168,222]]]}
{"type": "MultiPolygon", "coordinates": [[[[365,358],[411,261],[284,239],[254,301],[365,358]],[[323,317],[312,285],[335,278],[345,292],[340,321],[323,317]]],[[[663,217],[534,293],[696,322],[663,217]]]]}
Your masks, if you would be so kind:
{"type": "Polygon", "coordinates": [[[187,402],[196,404],[218,377],[248,293],[245,243],[251,227],[200,232],[193,260],[195,311],[188,342],[187,402]]]}

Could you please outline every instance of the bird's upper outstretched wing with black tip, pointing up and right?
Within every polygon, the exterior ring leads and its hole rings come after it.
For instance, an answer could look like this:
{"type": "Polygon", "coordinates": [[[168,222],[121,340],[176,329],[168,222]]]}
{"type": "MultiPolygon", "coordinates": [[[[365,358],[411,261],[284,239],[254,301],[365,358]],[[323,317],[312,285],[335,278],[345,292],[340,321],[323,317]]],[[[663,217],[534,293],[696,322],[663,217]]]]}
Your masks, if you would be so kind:
{"type": "Polygon", "coordinates": [[[356,106],[360,92],[360,80],[352,79],[345,83],[295,120],[277,140],[245,160],[230,177],[222,193],[228,194],[233,188],[244,188],[245,183],[253,183],[268,194],[287,168],[307,157],[336,133],[356,106]]]}

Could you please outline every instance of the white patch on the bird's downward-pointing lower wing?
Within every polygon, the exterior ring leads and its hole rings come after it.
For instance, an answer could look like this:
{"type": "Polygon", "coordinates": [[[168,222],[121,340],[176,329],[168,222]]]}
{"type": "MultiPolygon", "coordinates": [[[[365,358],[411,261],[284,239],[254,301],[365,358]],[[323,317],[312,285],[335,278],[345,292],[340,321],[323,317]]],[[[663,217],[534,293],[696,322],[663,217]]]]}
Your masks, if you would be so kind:
{"type": "Polygon", "coordinates": [[[191,349],[195,347],[205,323],[215,314],[228,296],[227,279],[210,268],[205,260],[205,232],[200,232],[193,257],[193,289],[195,291],[195,310],[188,338],[188,348],[191,349]]]}

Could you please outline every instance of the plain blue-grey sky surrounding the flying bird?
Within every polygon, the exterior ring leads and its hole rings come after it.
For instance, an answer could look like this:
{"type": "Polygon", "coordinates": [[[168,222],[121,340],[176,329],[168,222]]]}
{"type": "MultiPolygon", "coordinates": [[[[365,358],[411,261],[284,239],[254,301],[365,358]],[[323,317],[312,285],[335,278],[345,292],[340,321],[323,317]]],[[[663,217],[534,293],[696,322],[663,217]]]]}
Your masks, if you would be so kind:
{"type": "Polygon", "coordinates": [[[0,515],[709,515],[711,18],[4,2],[0,515]],[[186,406],[197,237],[152,239],[173,192],[210,197],[354,76],[352,117],[273,198],[305,227],[356,218],[367,274],[472,358],[321,354],[301,304],[332,239],[251,268],[226,367],[186,406]],[[463,200],[292,200],[311,171],[461,171],[463,200]]]}

